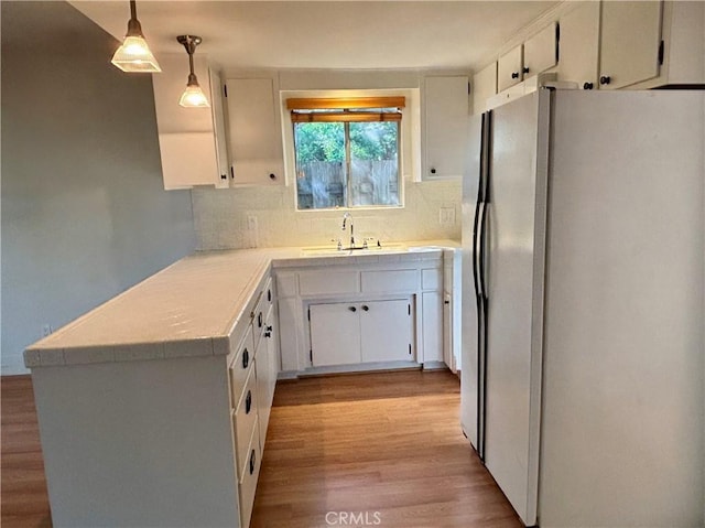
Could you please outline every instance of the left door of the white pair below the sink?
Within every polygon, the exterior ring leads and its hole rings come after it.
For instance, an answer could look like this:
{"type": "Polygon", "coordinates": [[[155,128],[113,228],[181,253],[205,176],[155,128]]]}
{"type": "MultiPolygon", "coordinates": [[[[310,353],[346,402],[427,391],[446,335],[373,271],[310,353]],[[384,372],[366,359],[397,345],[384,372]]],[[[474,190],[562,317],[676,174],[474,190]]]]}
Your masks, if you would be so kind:
{"type": "Polygon", "coordinates": [[[360,314],[355,303],[312,304],[311,359],[314,367],[360,363],[360,314]]]}

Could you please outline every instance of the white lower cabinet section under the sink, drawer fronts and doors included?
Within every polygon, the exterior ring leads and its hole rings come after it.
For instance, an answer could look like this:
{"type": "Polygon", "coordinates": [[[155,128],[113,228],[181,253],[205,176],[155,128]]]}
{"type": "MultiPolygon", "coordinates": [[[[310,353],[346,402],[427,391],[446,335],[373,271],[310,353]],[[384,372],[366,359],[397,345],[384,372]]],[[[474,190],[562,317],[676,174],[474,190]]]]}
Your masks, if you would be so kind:
{"type": "Polygon", "coordinates": [[[282,377],[372,363],[442,365],[443,250],[284,262],[274,274],[282,377]]]}

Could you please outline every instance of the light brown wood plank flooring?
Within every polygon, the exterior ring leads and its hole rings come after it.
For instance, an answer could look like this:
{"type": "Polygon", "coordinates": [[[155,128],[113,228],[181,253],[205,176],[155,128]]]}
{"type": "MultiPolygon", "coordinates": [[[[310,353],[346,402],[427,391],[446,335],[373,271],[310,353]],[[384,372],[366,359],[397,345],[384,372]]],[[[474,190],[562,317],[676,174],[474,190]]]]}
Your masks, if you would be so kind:
{"type": "MultiPolygon", "coordinates": [[[[51,527],[31,379],[3,377],[1,388],[1,525],[51,527]]],[[[521,527],[458,411],[447,371],[280,382],[252,528],[521,527]],[[345,514],[368,524],[344,525],[345,514]]]]}

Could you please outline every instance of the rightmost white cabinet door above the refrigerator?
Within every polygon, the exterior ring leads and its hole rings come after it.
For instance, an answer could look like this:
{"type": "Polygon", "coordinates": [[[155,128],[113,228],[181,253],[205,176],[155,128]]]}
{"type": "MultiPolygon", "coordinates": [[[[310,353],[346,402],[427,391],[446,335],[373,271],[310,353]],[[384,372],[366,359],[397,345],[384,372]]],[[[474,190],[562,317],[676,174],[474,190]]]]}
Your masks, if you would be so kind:
{"type": "Polygon", "coordinates": [[[603,2],[599,83],[616,89],[659,75],[662,2],[603,2]]]}

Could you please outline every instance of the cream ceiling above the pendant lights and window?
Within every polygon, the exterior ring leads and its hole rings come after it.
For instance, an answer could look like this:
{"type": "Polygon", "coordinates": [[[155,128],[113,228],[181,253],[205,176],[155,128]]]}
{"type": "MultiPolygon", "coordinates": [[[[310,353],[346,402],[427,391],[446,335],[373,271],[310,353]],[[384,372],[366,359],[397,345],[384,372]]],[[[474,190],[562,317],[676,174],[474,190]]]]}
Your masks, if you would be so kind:
{"type": "MultiPolygon", "coordinates": [[[[128,0],[69,3],[118,40],[128,0]]],[[[469,68],[557,1],[139,0],[150,46],[182,53],[176,35],[226,68],[469,68]]],[[[185,53],[185,52],[183,52],[185,53]]]]}

